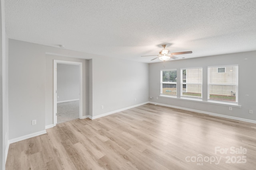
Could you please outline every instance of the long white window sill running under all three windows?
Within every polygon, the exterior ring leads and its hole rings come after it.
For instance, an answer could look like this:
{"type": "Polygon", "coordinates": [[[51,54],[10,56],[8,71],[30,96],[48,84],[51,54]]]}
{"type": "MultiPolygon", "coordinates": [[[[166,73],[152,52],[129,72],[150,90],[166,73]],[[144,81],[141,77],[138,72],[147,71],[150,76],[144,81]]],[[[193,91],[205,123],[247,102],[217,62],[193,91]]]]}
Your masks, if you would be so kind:
{"type": "Polygon", "coordinates": [[[177,96],[168,96],[168,95],[160,95],[160,98],[172,98],[177,100],[185,100],[185,101],[191,101],[191,102],[199,102],[199,103],[206,103],[206,104],[215,104],[215,105],[221,105],[221,106],[231,106],[231,107],[241,107],[237,103],[229,103],[229,102],[217,102],[217,101],[203,101],[202,98],[189,98],[189,97],[181,97],[177,98],[177,96]]]}

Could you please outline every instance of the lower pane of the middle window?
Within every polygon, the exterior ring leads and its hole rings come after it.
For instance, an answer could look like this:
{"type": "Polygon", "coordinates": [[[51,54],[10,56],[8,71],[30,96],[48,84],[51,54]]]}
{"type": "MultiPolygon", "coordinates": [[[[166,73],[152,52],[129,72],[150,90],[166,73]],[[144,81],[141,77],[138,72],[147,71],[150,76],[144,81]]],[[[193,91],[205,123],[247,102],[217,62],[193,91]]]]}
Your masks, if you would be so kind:
{"type": "Polygon", "coordinates": [[[183,84],[182,96],[202,97],[202,85],[183,84]]]}

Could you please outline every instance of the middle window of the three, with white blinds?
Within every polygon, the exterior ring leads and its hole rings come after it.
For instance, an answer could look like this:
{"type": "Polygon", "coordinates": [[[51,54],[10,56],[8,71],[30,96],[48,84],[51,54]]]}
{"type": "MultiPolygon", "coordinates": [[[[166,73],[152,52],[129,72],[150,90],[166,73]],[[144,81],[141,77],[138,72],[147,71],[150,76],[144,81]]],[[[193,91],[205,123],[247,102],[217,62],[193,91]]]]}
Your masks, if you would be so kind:
{"type": "Polygon", "coordinates": [[[181,70],[181,96],[202,98],[202,68],[181,70]]]}

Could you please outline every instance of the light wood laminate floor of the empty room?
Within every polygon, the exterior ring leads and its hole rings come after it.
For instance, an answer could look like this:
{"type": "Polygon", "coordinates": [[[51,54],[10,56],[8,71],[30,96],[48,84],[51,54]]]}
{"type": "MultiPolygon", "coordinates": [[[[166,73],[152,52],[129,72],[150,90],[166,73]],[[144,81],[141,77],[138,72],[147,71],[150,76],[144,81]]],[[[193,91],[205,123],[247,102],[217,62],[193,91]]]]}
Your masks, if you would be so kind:
{"type": "Polygon", "coordinates": [[[255,132],[254,123],[145,104],[12,143],[6,170],[253,170],[255,132]]]}

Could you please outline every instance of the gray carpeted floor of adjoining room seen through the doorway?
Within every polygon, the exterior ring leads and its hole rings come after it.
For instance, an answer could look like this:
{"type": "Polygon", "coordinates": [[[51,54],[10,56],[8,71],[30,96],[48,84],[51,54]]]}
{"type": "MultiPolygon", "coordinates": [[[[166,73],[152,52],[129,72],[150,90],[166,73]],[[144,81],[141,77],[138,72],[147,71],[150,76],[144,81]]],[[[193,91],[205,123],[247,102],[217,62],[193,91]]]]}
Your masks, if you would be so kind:
{"type": "Polygon", "coordinates": [[[79,100],[57,103],[57,123],[79,118],[79,100]]]}

